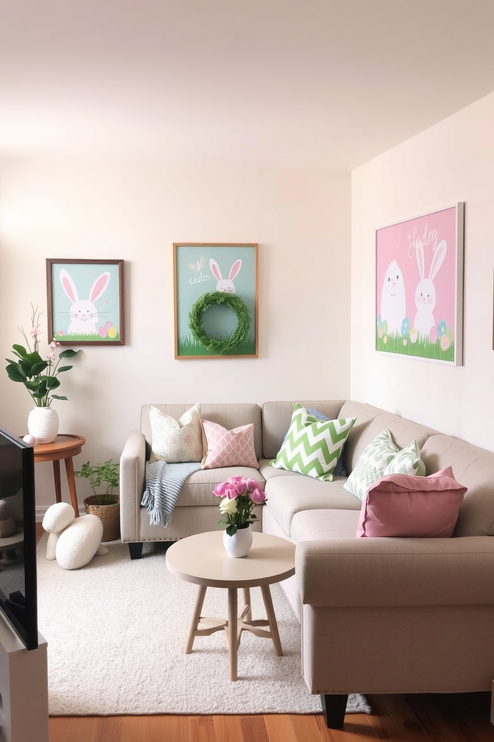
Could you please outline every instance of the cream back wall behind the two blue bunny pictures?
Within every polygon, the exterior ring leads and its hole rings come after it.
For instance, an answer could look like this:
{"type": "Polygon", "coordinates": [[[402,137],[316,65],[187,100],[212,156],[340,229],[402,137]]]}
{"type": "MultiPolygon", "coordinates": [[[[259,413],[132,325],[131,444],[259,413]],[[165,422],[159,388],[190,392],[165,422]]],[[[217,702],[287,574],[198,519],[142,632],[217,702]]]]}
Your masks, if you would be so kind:
{"type": "MultiPolygon", "coordinates": [[[[43,310],[45,258],[123,258],[124,347],[84,347],[54,402],[61,433],[90,459],[118,460],[147,402],[346,397],[350,390],[350,174],[150,162],[0,160],[0,346],[9,355],[43,310]],[[173,248],[257,242],[259,358],[176,361],[173,248]]],[[[0,424],[26,431],[33,406],[0,373],[0,424]]],[[[79,502],[89,494],[79,480],[79,502]]],[[[64,483],[64,499],[68,494],[64,483]]],[[[36,465],[39,513],[51,464],[36,465]]]]}

